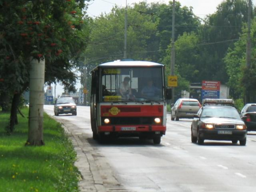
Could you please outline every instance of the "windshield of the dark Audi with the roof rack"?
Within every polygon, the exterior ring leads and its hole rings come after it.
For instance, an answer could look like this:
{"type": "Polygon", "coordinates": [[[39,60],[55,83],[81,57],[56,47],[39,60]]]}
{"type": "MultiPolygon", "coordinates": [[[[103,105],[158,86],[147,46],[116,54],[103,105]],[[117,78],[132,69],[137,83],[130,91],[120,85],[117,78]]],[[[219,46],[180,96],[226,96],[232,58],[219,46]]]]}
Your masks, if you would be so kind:
{"type": "Polygon", "coordinates": [[[241,119],[237,109],[225,107],[204,108],[201,112],[201,117],[241,119]]]}

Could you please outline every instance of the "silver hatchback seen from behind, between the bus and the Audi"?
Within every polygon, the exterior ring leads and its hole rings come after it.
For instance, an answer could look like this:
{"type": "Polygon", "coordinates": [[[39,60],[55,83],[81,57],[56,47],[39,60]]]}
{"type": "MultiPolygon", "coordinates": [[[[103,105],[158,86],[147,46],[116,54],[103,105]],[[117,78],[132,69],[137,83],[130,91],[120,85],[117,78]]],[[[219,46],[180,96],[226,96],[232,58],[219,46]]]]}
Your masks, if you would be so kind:
{"type": "Polygon", "coordinates": [[[180,98],[171,106],[171,120],[179,121],[181,118],[192,119],[200,109],[201,104],[197,99],[180,98]]]}

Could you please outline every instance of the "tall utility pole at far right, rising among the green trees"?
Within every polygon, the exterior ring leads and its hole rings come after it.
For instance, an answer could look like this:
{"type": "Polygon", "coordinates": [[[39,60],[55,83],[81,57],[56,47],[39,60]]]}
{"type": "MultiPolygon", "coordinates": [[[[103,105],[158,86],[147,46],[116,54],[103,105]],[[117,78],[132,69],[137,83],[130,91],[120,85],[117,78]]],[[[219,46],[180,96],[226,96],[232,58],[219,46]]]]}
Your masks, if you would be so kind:
{"type": "MultiPolygon", "coordinates": [[[[247,69],[251,67],[251,0],[248,0],[248,33],[246,45],[246,66],[247,69]]],[[[249,90],[245,91],[245,103],[250,102],[249,90]]]]}

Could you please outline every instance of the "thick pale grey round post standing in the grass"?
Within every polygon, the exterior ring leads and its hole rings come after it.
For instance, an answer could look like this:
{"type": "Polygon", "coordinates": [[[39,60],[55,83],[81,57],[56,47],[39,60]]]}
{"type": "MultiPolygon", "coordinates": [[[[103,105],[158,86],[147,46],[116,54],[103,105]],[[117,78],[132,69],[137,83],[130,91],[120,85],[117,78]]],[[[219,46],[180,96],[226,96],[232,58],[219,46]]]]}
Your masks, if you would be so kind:
{"type": "Polygon", "coordinates": [[[31,59],[29,76],[29,120],[26,145],[44,145],[43,104],[44,104],[45,61],[31,59]]]}

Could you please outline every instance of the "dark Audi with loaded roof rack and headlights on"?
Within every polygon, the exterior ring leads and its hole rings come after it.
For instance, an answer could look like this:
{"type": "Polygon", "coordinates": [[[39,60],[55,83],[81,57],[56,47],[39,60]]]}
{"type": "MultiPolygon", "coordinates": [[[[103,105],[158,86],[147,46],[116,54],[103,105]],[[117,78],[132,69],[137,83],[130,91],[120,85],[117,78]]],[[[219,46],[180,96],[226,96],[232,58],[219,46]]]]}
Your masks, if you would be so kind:
{"type": "MultiPolygon", "coordinates": [[[[230,102],[226,100],[227,102],[230,102]]],[[[225,100],[216,100],[227,104],[225,100]]],[[[213,104],[213,102],[211,102],[213,104]]],[[[204,140],[228,140],[246,145],[247,127],[235,107],[205,105],[194,115],[191,125],[191,141],[204,144],[204,140]]]]}

